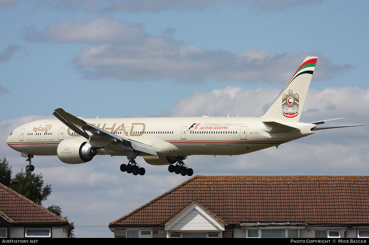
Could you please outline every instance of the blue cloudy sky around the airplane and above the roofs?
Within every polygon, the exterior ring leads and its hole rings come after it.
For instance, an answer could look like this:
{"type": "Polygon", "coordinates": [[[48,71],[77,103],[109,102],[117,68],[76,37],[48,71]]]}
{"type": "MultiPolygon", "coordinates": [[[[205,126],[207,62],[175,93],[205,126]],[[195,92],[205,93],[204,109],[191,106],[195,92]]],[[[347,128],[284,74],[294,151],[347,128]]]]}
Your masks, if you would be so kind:
{"type": "MultiPolygon", "coordinates": [[[[0,157],[14,128],[54,119],[262,116],[307,56],[318,56],[300,117],[369,124],[368,1],[0,0],[0,157]]],[[[240,156],[189,156],[194,175],[367,175],[368,126],[328,129],[240,156]]],[[[35,156],[76,237],[113,237],[108,224],[186,181],[142,158],[85,164],[35,156]]]]}

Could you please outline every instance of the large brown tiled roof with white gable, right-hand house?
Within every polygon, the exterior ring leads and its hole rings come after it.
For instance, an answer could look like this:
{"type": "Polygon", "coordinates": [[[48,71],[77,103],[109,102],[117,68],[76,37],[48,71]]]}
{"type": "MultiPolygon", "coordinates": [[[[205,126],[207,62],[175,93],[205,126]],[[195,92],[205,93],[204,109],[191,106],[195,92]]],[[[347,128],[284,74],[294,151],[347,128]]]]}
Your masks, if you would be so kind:
{"type": "Polygon", "coordinates": [[[164,225],[193,200],[228,224],[369,224],[369,176],[199,176],[110,226],[164,225]]]}

